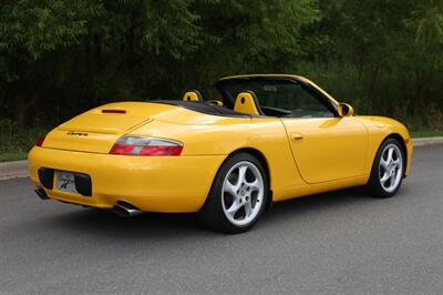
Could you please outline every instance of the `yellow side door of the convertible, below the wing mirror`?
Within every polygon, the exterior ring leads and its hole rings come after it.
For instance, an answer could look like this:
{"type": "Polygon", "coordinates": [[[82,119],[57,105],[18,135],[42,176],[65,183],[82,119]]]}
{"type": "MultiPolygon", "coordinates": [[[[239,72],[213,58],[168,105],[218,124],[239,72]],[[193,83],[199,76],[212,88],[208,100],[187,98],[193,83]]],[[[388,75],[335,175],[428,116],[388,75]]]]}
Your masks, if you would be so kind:
{"type": "Polygon", "coordinates": [[[281,119],[292,155],[308,183],[363,175],[368,131],[354,118],[281,119]]]}

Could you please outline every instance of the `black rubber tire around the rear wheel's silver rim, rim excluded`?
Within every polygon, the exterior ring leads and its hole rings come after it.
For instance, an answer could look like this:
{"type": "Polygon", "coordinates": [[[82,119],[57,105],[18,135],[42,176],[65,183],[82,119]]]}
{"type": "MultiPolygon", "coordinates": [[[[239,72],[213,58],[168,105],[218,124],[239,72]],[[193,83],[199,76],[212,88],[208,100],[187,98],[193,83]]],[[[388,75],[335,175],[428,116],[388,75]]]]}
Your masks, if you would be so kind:
{"type": "MultiPolygon", "coordinates": [[[[202,210],[198,212],[198,218],[203,225],[208,228],[216,230],[223,233],[229,234],[238,234],[249,231],[258,221],[262,212],[265,211],[266,205],[268,204],[269,197],[269,184],[268,184],[268,175],[266,170],[264,169],[260,161],[258,161],[255,156],[248,153],[237,153],[229,156],[220,166],[217,172],[217,175],[213,182],[213,186],[210,189],[209,195],[206,199],[205,204],[202,210]],[[223,185],[225,177],[229,170],[239,162],[250,162],[254,164],[261,174],[264,182],[264,200],[260,204],[260,210],[256,217],[244,226],[238,226],[233,224],[226,216],[223,208],[223,185]]],[[[257,204],[257,203],[256,203],[257,204]]]]}

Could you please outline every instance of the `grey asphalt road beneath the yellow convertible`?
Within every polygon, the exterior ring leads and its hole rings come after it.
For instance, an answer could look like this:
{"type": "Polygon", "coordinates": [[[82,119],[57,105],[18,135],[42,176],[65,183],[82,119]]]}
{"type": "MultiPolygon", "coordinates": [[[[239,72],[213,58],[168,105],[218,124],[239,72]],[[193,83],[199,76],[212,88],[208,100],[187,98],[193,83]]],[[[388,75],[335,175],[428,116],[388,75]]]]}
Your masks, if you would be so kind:
{"type": "Polygon", "coordinates": [[[246,234],[193,214],[122,218],[0,182],[0,293],[443,293],[443,145],[399,194],[279,203],[246,234]]]}

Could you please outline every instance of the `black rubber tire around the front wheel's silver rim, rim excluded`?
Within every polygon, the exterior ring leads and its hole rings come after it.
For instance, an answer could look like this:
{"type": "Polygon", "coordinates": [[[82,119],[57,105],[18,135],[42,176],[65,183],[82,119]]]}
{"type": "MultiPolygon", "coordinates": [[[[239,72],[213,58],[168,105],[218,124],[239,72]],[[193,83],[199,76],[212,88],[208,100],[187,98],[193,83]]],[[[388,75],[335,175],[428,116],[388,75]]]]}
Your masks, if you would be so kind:
{"type": "Polygon", "coordinates": [[[371,175],[370,179],[368,181],[368,184],[365,185],[365,191],[370,196],[373,197],[379,197],[379,199],[384,199],[384,197],[391,197],[393,195],[396,194],[396,192],[399,191],[402,182],[403,182],[403,176],[404,176],[404,171],[405,171],[405,165],[406,165],[406,161],[405,161],[405,151],[402,146],[402,144],[399,142],[399,140],[394,139],[394,138],[388,138],[387,140],[384,140],[382,142],[382,144],[380,145],[377,154],[375,154],[375,159],[372,163],[372,169],[371,169],[371,175]],[[399,150],[401,151],[401,156],[402,156],[402,176],[400,179],[400,183],[398,184],[398,186],[395,187],[394,191],[388,192],[381,184],[380,181],[380,161],[382,159],[382,153],[384,151],[384,149],[388,145],[394,144],[399,148],[399,150]]]}

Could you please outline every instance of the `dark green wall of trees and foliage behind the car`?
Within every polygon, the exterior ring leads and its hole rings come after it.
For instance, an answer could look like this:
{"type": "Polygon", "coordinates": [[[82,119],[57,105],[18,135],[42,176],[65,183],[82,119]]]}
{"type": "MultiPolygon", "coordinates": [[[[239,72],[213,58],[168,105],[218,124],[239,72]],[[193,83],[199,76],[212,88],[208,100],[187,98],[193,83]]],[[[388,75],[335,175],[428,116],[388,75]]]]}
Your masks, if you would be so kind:
{"type": "Polygon", "coordinates": [[[0,111],[19,126],[253,72],[307,75],[359,113],[443,129],[443,0],[0,2],[0,111]]]}

